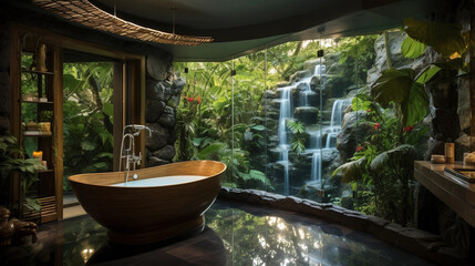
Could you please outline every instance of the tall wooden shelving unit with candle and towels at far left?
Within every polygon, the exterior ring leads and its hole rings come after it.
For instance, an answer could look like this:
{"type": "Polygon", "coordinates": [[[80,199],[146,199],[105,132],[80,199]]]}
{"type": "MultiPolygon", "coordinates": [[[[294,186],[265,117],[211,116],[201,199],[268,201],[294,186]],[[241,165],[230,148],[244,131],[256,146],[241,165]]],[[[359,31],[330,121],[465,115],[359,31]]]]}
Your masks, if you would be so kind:
{"type": "MultiPolygon", "coordinates": [[[[14,31],[16,53],[12,54],[13,94],[13,135],[25,149],[29,157],[32,151],[42,152],[47,170],[39,170],[38,181],[21,185],[24,177],[17,175],[17,193],[13,201],[19,204],[20,218],[35,223],[47,223],[62,218],[62,65],[60,48],[32,32],[14,31]],[[37,71],[33,54],[39,44],[45,44],[47,71],[37,71]],[[31,96],[34,94],[34,96],[31,96]],[[41,100],[40,100],[41,99],[41,100]],[[41,121],[40,114],[52,115],[49,121],[41,121]],[[48,126],[27,126],[30,120],[37,124],[49,122],[48,126]],[[27,187],[24,190],[24,187],[27,187]],[[35,208],[31,203],[35,202],[35,208]]],[[[48,116],[48,115],[47,115],[48,116]]]]}

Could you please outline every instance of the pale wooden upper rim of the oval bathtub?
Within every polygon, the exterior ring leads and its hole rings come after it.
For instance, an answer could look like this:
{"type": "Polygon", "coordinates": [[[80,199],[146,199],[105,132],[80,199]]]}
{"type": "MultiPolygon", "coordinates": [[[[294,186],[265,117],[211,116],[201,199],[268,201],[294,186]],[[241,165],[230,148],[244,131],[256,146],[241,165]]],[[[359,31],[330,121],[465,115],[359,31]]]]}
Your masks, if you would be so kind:
{"type": "MultiPolygon", "coordinates": [[[[200,175],[200,176],[204,176],[204,177],[199,178],[197,181],[190,181],[190,182],[178,183],[178,184],[169,184],[169,185],[158,185],[158,186],[113,186],[115,184],[124,183],[126,172],[102,172],[102,173],[75,174],[75,175],[69,176],[68,181],[72,182],[72,183],[79,183],[79,184],[82,184],[82,185],[100,186],[100,187],[107,187],[107,188],[110,187],[111,190],[121,190],[121,188],[122,190],[123,188],[127,188],[127,190],[144,190],[144,188],[154,188],[154,187],[187,185],[187,184],[190,184],[190,183],[194,183],[194,182],[200,182],[200,181],[204,181],[204,180],[208,180],[208,178],[213,178],[215,176],[221,175],[227,170],[227,165],[225,163],[219,162],[219,161],[195,160],[195,161],[176,162],[176,163],[169,163],[169,164],[164,164],[164,165],[158,165],[158,166],[140,168],[140,170],[131,171],[131,172],[140,174],[141,172],[149,172],[149,171],[153,171],[153,170],[159,171],[159,168],[169,168],[169,167],[176,167],[176,166],[179,166],[179,165],[187,165],[187,164],[190,164],[192,166],[193,166],[193,164],[215,164],[217,166],[221,166],[221,168],[220,168],[220,171],[218,171],[216,173],[213,173],[213,175],[200,175]],[[91,182],[91,178],[94,180],[94,178],[97,178],[99,176],[105,176],[104,178],[106,178],[106,176],[110,176],[111,174],[116,174],[115,176],[121,176],[122,181],[120,181],[117,183],[112,183],[112,184],[96,184],[94,182],[91,182]],[[93,177],[93,176],[97,176],[97,177],[93,177]]],[[[188,175],[193,175],[193,174],[188,174],[188,175]]],[[[159,178],[159,177],[169,177],[169,176],[178,176],[178,175],[148,176],[148,177],[140,178],[140,180],[159,178]]],[[[133,181],[131,181],[131,182],[133,182],[133,181]]]]}

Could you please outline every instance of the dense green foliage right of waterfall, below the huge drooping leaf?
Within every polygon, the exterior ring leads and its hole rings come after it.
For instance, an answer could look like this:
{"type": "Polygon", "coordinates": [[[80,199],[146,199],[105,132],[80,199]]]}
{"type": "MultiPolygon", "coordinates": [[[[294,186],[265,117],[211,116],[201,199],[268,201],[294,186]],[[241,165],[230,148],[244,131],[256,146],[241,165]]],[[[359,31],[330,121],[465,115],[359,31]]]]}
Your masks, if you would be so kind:
{"type": "MultiPolygon", "coordinates": [[[[394,103],[393,100],[388,100],[388,104],[394,103]]],[[[383,109],[364,91],[353,99],[352,106],[365,112],[358,126],[368,133],[351,161],[338,167],[333,175],[341,172],[342,182],[353,186],[355,209],[403,225],[411,223],[413,162],[420,157],[416,151],[424,150],[422,140],[426,139],[428,129],[406,126],[399,109],[383,109]]]]}

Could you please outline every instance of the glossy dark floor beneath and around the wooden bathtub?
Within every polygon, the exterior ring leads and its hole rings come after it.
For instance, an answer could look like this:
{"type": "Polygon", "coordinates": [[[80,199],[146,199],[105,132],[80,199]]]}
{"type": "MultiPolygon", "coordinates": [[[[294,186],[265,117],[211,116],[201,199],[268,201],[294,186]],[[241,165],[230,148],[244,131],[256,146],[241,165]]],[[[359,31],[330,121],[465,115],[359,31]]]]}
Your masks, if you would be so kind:
{"type": "Polygon", "coordinates": [[[0,248],[3,265],[432,265],[374,237],[291,212],[216,202],[203,233],[146,246],[109,242],[83,215],[42,225],[39,242],[0,248]]]}

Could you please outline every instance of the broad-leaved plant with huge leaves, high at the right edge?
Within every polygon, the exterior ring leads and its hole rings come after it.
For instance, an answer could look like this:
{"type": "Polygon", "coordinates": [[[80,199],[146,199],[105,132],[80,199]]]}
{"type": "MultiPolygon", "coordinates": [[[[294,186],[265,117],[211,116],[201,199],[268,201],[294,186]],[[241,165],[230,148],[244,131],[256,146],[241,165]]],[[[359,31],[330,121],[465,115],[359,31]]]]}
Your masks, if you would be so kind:
{"type": "Polygon", "coordinates": [[[463,54],[467,51],[468,40],[461,30],[462,27],[456,24],[404,20],[404,31],[407,33],[402,43],[404,57],[422,55],[425,45],[431,45],[442,55],[440,61],[427,64],[420,73],[412,69],[388,69],[372,85],[371,94],[378,103],[397,104],[395,109],[404,126],[415,125],[427,114],[425,83],[441,69],[463,70],[466,66],[463,54]]]}

